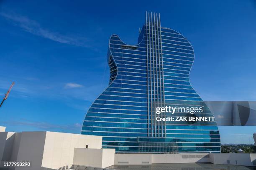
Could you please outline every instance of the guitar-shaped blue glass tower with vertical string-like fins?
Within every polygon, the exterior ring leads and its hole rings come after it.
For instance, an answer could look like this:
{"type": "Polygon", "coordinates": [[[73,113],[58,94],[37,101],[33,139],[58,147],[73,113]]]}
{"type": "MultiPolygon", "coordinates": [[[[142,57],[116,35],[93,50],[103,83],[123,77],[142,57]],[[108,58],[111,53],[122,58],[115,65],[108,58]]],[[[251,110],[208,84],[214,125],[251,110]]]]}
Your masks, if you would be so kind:
{"type": "MultiPolygon", "coordinates": [[[[102,148],[116,153],[220,153],[215,121],[156,121],[156,107],[205,105],[189,82],[192,45],[179,32],[161,27],[159,14],[146,13],[138,45],[112,35],[107,60],[109,85],[88,110],[82,134],[103,136],[102,148]]],[[[206,105],[197,115],[212,116],[206,105]]]]}

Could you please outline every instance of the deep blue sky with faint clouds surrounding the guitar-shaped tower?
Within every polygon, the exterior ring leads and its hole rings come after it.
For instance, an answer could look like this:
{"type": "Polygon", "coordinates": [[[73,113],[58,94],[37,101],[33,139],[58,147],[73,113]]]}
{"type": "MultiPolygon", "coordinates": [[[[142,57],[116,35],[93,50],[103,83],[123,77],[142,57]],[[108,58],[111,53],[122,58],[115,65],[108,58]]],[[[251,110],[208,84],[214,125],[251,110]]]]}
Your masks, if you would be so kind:
{"type": "MultiPolygon", "coordinates": [[[[256,100],[255,0],[2,0],[0,96],[16,84],[0,125],[80,133],[88,107],[108,85],[110,35],[136,44],[146,10],[192,43],[190,81],[203,100],[256,100]]],[[[252,143],[255,131],[220,127],[222,143],[252,143]]]]}

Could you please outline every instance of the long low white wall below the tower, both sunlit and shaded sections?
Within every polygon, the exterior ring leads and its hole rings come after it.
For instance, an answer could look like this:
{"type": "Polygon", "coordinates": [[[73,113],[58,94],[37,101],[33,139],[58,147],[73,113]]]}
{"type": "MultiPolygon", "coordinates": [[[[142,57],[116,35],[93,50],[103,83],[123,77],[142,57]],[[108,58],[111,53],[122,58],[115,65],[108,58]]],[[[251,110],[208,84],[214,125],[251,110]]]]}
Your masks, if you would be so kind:
{"type": "Polygon", "coordinates": [[[161,163],[213,163],[256,166],[256,154],[246,153],[178,153],[115,154],[115,165],[151,165],[161,163]]]}

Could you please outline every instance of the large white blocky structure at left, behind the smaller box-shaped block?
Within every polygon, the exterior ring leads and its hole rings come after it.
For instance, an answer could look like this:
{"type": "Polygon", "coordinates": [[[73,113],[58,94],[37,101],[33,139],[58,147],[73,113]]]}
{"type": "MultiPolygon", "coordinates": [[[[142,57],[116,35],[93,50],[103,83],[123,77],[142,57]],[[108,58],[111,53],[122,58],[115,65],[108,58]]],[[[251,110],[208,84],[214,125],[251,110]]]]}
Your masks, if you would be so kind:
{"type": "Polygon", "coordinates": [[[56,132],[0,132],[0,161],[29,161],[31,167],[15,170],[48,170],[73,165],[74,148],[102,146],[101,136],[56,132]]]}

